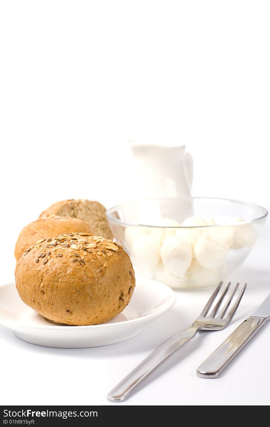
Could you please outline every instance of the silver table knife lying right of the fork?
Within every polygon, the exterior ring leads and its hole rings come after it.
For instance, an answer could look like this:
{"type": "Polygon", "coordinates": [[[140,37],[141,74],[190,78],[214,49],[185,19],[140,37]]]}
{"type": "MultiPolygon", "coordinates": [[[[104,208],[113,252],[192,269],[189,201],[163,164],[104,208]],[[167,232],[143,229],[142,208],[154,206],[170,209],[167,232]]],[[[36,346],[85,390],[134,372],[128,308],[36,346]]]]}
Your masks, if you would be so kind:
{"type": "Polygon", "coordinates": [[[202,378],[217,378],[249,340],[270,319],[270,295],[255,313],[244,320],[230,336],[198,367],[202,378]]]}

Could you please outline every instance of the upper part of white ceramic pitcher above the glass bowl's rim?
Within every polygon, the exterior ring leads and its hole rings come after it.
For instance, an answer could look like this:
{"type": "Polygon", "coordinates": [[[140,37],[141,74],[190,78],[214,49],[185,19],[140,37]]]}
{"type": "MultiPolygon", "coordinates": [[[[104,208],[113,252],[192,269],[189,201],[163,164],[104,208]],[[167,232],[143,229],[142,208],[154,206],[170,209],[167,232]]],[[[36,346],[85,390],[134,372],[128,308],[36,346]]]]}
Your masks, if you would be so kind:
{"type": "Polygon", "coordinates": [[[129,141],[132,157],[133,198],[191,195],[192,156],[185,146],[140,145],[129,141]]]}

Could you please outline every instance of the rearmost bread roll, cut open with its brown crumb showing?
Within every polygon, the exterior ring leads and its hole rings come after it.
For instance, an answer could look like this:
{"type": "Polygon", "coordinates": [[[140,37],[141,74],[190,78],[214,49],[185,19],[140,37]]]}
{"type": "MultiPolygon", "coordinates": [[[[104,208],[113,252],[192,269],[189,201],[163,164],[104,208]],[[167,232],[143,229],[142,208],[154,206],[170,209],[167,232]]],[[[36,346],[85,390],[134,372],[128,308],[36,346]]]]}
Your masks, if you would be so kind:
{"type": "Polygon", "coordinates": [[[92,200],[62,200],[49,206],[39,218],[50,215],[71,216],[89,222],[92,234],[113,239],[113,234],[107,222],[106,208],[99,202],[92,200]]]}

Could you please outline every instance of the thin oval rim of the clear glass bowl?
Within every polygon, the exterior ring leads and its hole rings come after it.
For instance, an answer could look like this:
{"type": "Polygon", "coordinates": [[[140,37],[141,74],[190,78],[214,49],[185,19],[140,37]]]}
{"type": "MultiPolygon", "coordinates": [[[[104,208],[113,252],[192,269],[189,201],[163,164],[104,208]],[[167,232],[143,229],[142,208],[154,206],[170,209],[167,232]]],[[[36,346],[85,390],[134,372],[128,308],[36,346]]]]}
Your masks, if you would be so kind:
{"type": "Polygon", "coordinates": [[[116,222],[116,224],[118,225],[124,225],[124,226],[128,226],[128,227],[149,227],[149,228],[214,228],[214,227],[234,227],[236,225],[245,225],[245,224],[252,224],[253,222],[259,221],[260,219],[265,218],[268,215],[268,211],[266,208],[264,208],[261,205],[257,205],[255,203],[251,203],[251,202],[245,202],[243,200],[236,200],[236,199],[225,199],[225,198],[221,198],[221,197],[157,197],[154,199],[140,199],[140,200],[134,200],[132,202],[125,202],[125,203],[120,203],[119,205],[115,205],[112,206],[111,208],[106,210],[106,216],[108,219],[110,219],[110,221],[116,222]],[[242,221],[242,222],[237,222],[235,224],[227,224],[227,225],[194,225],[194,226],[187,226],[187,227],[182,227],[182,225],[178,225],[178,226],[173,226],[173,225],[149,225],[149,224],[139,224],[136,222],[126,222],[126,221],[122,221],[121,219],[117,219],[117,218],[113,218],[110,215],[110,212],[113,210],[116,210],[116,208],[119,208],[122,205],[131,205],[132,203],[142,203],[142,202],[150,202],[150,201],[154,201],[154,200],[165,200],[165,199],[180,199],[180,200],[194,200],[194,199],[207,199],[207,200],[217,200],[217,201],[222,201],[222,202],[233,202],[233,203],[238,203],[240,205],[245,205],[245,206],[250,206],[253,208],[260,208],[264,211],[264,215],[262,216],[258,216],[258,218],[254,218],[251,219],[250,221],[242,221]]]}

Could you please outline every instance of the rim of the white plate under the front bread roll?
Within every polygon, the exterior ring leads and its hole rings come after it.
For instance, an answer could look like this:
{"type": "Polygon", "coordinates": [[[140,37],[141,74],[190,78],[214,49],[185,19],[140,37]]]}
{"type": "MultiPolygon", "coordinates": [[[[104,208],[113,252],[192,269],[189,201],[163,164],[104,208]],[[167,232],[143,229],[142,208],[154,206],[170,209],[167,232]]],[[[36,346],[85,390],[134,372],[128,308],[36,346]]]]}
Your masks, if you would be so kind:
{"type": "MultiPolygon", "coordinates": [[[[9,328],[9,325],[20,325],[20,327],[22,328],[28,328],[28,329],[43,329],[43,330],[85,330],[85,329],[95,329],[95,328],[105,328],[105,327],[110,327],[113,328],[117,325],[130,325],[132,323],[136,323],[137,325],[139,323],[144,323],[146,320],[154,320],[156,317],[161,316],[163,313],[166,313],[166,311],[168,311],[171,307],[173,307],[175,301],[176,301],[176,294],[174,292],[173,289],[171,289],[168,285],[165,285],[162,282],[153,280],[153,279],[148,279],[148,278],[140,278],[141,280],[143,279],[144,281],[147,281],[151,284],[153,284],[154,286],[160,286],[160,287],[165,287],[166,290],[168,291],[168,294],[170,294],[170,298],[168,299],[168,301],[166,301],[164,304],[162,304],[160,307],[157,307],[157,309],[155,309],[154,313],[148,314],[146,316],[140,316],[136,319],[130,319],[130,320],[126,320],[126,321],[122,321],[122,322],[114,322],[114,323],[100,323],[99,325],[75,325],[75,329],[74,329],[74,325],[54,325],[53,328],[50,325],[25,325],[19,321],[15,321],[15,320],[9,320],[9,319],[4,319],[3,317],[0,316],[0,325],[9,328]]],[[[137,279],[139,280],[139,278],[137,279]]],[[[15,282],[9,282],[3,285],[0,285],[0,288],[2,287],[10,287],[11,285],[15,285],[15,282]]],[[[132,301],[132,298],[131,298],[132,301]]],[[[22,301],[23,302],[23,301],[22,301]]],[[[25,304],[23,302],[23,304],[25,304]]],[[[130,303],[129,303],[130,304],[130,303]]],[[[26,307],[29,307],[27,304],[25,304],[26,307]]],[[[35,311],[34,309],[32,309],[33,311],[35,311]]],[[[38,313],[38,312],[36,312],[38,313]]],[[[39,314],[39,313],[38,313],[39,314]]],[[[42,316],[42,315],[40,315],[42,316]]],[[[44,316],[42,316],[44,317],[44,316]]]]}

